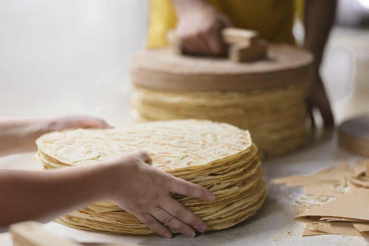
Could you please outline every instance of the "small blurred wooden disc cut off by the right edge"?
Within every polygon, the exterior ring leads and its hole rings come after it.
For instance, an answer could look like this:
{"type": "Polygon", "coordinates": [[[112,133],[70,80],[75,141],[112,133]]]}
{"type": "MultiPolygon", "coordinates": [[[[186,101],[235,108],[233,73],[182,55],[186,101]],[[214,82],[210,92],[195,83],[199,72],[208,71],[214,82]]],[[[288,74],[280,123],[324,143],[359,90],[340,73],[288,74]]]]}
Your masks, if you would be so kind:
{"type": "Polygon", "coordinates": [[[339,126],[338,138],[342,148],[369,157],[369,116],[343,122],[339,126]]]}

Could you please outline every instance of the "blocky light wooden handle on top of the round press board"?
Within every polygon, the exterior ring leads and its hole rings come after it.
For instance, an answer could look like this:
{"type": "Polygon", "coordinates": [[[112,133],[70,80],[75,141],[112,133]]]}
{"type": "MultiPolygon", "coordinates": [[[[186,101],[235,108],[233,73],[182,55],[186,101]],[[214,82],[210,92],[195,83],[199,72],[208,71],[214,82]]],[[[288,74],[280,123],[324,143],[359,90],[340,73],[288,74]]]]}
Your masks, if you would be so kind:
{"type": "MultiPolygon", "coordinates": [[[[266,41],[256,31],[240,28],[223,28],[221,37],[228,45],[228,59],[232,62],[250,62],[266,57],[266,41]]],[[[180,41],[174,42],[174,51],[183,55],[180,41]]]]}

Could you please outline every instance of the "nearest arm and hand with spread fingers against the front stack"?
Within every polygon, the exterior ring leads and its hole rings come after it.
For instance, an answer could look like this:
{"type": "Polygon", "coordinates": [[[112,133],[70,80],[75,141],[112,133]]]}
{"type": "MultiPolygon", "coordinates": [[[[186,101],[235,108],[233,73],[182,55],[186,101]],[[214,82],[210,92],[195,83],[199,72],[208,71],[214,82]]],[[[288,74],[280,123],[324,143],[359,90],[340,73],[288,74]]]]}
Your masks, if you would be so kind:
{"type": "Polygon", "coordinates": [[[144,151],[104,163],[51,171],[0,170],[0,228],[35,220],[46,222],[97,201],[113,201],[159,235],[170,238],[162,223],[187,237],[206,231],[199,217],[169,193],[213,201],[209,190],[145,163],[144,151]],[[193,229],[194,228],[194,229],[193,229]]]}

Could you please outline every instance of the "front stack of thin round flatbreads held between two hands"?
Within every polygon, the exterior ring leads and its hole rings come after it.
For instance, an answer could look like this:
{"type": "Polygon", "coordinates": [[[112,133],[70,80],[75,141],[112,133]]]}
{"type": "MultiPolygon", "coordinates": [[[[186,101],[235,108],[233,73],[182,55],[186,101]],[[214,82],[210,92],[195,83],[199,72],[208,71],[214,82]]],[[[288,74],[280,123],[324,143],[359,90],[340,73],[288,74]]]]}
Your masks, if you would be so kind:
{"type": "MultiPolygon", "coordinates": [[[[81,166],[147,150],[151,166],[214,193],[212,202],[171,194],[203,219],[208,230],[229,228],[250,218],[265,200],[256,145],[248,131],[225,123],[188,119],[154,121],[125,129],[74,129],[45,134],[36,143],[35,157],[47,169],[81,166]]],[[[97,202],[57,222],[98,232],[155,234],[110,201],[97,202]]]]}

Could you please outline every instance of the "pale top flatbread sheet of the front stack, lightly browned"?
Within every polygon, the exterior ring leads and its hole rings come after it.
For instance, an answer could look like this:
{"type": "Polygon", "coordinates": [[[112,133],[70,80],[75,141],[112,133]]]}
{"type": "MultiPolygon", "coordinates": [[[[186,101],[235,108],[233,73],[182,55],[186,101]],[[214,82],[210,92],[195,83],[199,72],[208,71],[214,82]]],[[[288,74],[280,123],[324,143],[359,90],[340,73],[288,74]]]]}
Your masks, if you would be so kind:
{"type": "Polygon", "coordinates": [[[248,131],[208,120],[154,121],[124,129],[51,132],[36,141],[39,151],[70,165],[109,160],[146,150],[149,164],[173,172],[239,158],[249,152],[248,131]]]}

